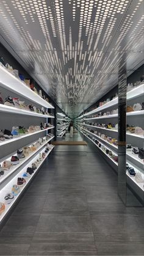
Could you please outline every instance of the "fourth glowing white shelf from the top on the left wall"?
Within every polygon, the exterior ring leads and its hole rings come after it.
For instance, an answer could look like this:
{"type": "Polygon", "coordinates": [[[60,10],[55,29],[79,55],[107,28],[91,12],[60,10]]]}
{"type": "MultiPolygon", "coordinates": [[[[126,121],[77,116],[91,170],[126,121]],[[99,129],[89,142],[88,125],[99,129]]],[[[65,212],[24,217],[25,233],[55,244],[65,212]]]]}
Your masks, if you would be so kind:
{"type": "MultiPolygon", "coordinates": [[[[50,137],[50,138],[48,139],[48,141],[43,142],[43,144],[40,145],[40,147],[38,147],[37,150],[35,150],[34,152],[30,153],[29,156],[27,156],[26,158],[24,158],[23,160],[21,160],[21,161],[20,161],[20,164],[16,164],[16,166],[10,167],[9,170],[5,170],[5,171],[4,171],[5,174],[0,177],[0,185],[1,185],[1,183],[2,183],[4,180],[6,180],[10,175],[12,175],[13,172],[15,172],[17,169],[19,169],[21,166],[23,166],[24,163],[26,163],[29,159],[31,159],[32,156],[34,156],[38,151],[40,151],[40,149],[43,148],[43,147],[44,147],[49,141],[51,141],[53,138],[54,138],[54,136],[50,137]]],[[[35,142],[33,142],[32,144],[35,144],[35,142]]],[[[13,155],[16,155],[16,156],[17,156],[16,152],[14,152],[14,153],[12,153],[12,154],[10,154],[10,155],[11,155],[11,156],[13,156],[13,155]]],[[[7,157],[5,156],[5,159],[0,163],[1,166],[2,166],[2,163],[3,163],[5,160],[10,161],[11,156],[10,156],[9,158],[7,158],[7,157]]]]}

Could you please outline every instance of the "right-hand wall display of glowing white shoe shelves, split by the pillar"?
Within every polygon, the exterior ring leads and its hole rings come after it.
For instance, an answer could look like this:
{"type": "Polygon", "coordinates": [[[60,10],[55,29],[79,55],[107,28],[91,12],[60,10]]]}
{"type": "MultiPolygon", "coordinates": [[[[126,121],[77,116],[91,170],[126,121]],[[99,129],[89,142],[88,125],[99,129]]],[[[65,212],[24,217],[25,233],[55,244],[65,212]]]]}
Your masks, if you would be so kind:
{"type": "MultiPolygon", "coordinates": [[[[144,101],[144,84],[140,84],[134,89],[127,92],[127,106],[133,106],[134,104],[141,103],[144,101]]],[[[118,147],[117,145],[113,145],[108,141],[104,140],[98,134],[94,132],[97,131],[98,133],[105,134],[106,136],[115,138],[118,140],[118,130],[113,128],[105,128],[98,126],[99,123],[103,123],[108,125],[109,123],[113,123],[116,125],[118,123],[118,114],[110,114],[112,113],[113,109],[118,108],[118,97],[113,98],[113,100],[107,102],[103,106],[99,106],[98,108],[93,109],[92,111],[85,112],[84,114],[77,117],[74,122],[76,128],[84,134],[93,144],[96,145],[95,139],[101,144],[104,145],[107,150],[110,150],[115,156],[118,155],[118,147]],[[102,115],[101,114],[97,117],[93,116],[99,114],[101,112],[109,111],[109,115],[102,115]],[[91,123],[91,124],[90,124],[91,123]],[[92,132],[93,131],[93,132],[92,132]]],[[[127,124],[129,126],[139,126],[144,130],[144,110],[132,111],[126,113],[127,117],[127,124]]],[[[135,134],[126,131],[126,144],[131,144],[132,147],[143,148],[144,145],[144,136],[143,134],[135,134]]],[[[98,145],[96,145],[98,147],[98,145]]],[[[99,148],[99,147],[98,147],[99,148]]],[[[103,148],[103,147],[102,147],[103,148]]],[[[107,161],[110,163],[115,163],[115,166],[118,167],[118,163],[113,161],[112,158],[107,155],[107,153],[102,149],[99,150],[103,153],[104,156],[107,156],[107,161]]],[[[143,175],[143,167],[144,162],[143,159],[139,158],[139,155],[135,155],[134,152],[127,151],[126,152],[126,163],[128,163],[129,167],[133,167],[135,170],[135,176],[131,176],[128,171],[126,171],[127,175],[127,183],[128,185],[134,190],[134,192],[139,196],[139,198],[143,201],[144,199],[144,175],[143,175]]],[[[118,168],[115,170],[118,171],[118,168]]]]}

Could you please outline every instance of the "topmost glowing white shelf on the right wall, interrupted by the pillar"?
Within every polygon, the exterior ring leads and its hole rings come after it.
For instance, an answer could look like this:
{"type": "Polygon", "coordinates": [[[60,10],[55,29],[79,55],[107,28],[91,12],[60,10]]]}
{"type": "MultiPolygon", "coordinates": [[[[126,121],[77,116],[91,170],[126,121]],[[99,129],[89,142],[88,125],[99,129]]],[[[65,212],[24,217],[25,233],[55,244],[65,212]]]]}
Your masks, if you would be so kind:
{"type": "MultiPolygon", "coordinates": [[[[137,98],[141,95],[144,95],[144,84],[140,84],[140,86],[135,87],[134,89],[130,90],[129,92],[126,93],[127,100],[132,100],[133,98],[137,98]]],[[[115,106],[118,104],[118,97],[113,98],[113,100],[107,102],[103,106],[100,106],[96,109],[93,109],[92,111],[85,113],[84,116],[86,117],[87,115],[94,114],[96,112],[101,112],[102,110],[106,108],[110,108],[112,106],[115,106]]]]}

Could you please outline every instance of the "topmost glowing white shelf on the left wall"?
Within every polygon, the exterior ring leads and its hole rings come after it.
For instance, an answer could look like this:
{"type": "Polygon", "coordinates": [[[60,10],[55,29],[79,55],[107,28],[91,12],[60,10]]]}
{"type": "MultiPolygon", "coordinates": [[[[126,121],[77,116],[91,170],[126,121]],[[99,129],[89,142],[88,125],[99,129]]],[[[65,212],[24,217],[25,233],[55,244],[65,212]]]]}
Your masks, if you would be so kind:
{"type": "Polygon", "coordinates": [[[0,65],[0,84],[4,89],[8,89],[12,92],[15,92],[18,95],[21,95],[28,100],[31,100],[38,105],[41,105],[45,108],[54,109],[54,107],[46,100],[43,100],[37,93],[31,90],[21,79],[16,78],[12,75],[6,68],[0,65]]]}

